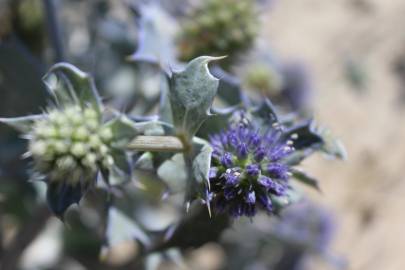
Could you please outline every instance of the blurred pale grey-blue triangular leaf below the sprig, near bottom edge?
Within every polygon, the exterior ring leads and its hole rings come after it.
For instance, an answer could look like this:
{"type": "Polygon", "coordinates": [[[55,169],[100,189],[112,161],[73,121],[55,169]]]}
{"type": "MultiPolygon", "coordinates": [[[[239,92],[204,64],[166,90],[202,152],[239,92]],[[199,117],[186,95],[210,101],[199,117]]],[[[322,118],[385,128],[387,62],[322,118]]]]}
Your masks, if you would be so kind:
{"type": "Polygon", "coordinates": [[[144,246],[150,245],[148,235],[119,209],[109,208],[107,222],[106,238],[110,247],[133,240],[138,240],[144,246]]]}

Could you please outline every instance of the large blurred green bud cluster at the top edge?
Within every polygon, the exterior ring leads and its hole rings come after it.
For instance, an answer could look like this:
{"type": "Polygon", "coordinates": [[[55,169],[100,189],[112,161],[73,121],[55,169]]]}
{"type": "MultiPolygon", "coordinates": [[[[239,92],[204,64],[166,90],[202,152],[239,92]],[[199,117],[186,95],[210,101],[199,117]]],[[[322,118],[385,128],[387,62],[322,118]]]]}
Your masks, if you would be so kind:
{"type": "Polygon", "coordinates": [[[251,47],[258,16],[253,0],[207,0],[187,17],[179,40],[180,58],[227,55],[227,62],[251,47]]]}

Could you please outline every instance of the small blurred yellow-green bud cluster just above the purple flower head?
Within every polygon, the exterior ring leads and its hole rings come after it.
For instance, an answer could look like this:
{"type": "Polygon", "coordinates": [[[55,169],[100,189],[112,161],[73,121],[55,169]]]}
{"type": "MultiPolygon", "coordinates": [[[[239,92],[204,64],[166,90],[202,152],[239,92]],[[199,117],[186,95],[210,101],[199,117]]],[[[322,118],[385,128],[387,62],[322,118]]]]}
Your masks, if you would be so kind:
{"type": "Polygon", "coordinates": [[[246,89],[259,91],[260,94],[274,98],[281,93],[283,78],[269,65],[255,63],[247,67],[243,83],[246,89]]]}

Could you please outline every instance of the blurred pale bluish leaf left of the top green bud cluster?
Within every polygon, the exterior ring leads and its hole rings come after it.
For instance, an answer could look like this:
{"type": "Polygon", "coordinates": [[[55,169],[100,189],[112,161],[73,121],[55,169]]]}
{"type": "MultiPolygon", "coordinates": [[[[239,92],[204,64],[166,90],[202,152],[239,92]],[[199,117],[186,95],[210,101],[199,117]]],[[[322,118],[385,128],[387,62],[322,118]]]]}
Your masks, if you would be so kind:
{"type": "Polygon", "coordinates": [[[138,49],[130,59],[158,64],[169,71],[177,63],[173,44],[176,22],[156,4],[141,6],[140,13],[138,49]]]}

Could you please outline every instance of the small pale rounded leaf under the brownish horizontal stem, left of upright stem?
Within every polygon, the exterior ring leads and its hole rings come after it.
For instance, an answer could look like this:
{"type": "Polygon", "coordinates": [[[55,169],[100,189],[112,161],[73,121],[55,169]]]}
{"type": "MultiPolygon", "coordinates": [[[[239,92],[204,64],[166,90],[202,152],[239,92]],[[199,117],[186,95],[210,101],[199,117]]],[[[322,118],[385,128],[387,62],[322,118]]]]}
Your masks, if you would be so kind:
{"type": "Polygon", "coordinates": [[[175,154],[171,159],[163,162],[157,174],[169,187],[171,193],[184,191],[187,185],[187,171],[183,154],[175,154]]]}

